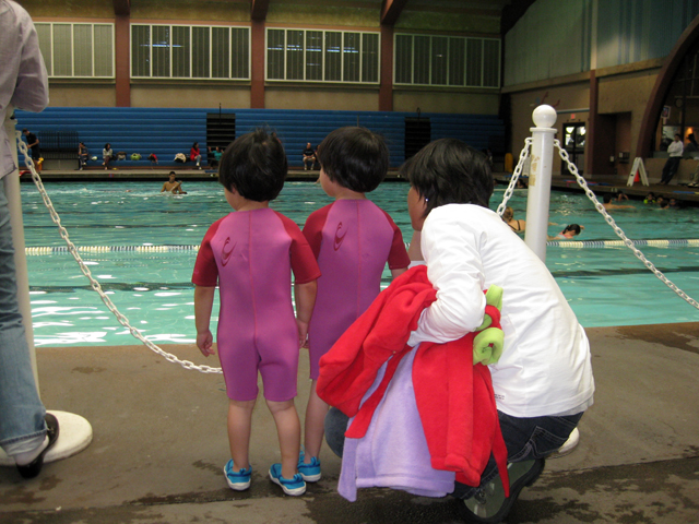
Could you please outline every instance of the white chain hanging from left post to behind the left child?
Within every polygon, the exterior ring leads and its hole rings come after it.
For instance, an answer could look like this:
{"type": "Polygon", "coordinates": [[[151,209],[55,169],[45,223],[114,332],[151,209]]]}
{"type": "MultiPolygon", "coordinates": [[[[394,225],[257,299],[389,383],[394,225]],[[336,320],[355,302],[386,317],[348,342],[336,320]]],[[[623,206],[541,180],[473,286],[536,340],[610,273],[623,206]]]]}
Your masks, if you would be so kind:
{"type": "Polygon", "coordinates": [[[29,169],[29,171],[32,171],[32,180],[34,180],[34,184],[39,190],[39,194],[44,200],[44,204],[46,205],[49,214],[51,215],[51,221],[54,221],[54,224],[58,226],[58,230],[60,233],[61,238],[66,240],[66,243],[68,245],[68,251],[73,255],[73,259],[75,259],[75,262],[78,262],[78,265],[80,266],[80,271],[82,271],[83,275],[85,275],[90,281],[91,287],[95,291],[97,291],[97,294],[99,295],[99,298],[102,298],[102,301],[105,303],[105,306],[107,306],[109,311],[111,311],[111,313],[116,317],[119,323],[125,327],[127,327],[129,330],[129,333],[131,333],[131,335],[133,335],[135,338],[141,341],[149,349],[158,354],[159,356],[165,358],[168,362],[179,364],[185,369],[200,371],[202,373],[222,373],[223,371],[221,368],[212,368],[210,366],[197,366],[194,362],[191,362],[189,360],[180,360],[175,355],[164,352],[163,349],[157,347],[155,344],[153,344],[151,341],[145,338],[138,329],[133,327],[129,323],[129,319],[127,319],[123,314],[119,312],[119,310],[117,310],[117,307],[114,305],[111,299],[107,295],[105,295],[105,293],[102,290],[102,286],[99,285],[99,282],[93,278],[92,273],[83,262],[83,259],[80,257],[78,252],[78,248],[70,240],[70,238],[68,237],[68,231],[61,225],[61,219],[58,216],[58,213],[56,212],[56,210],[54,209],[54,204],[51,203],[51,199],[49,199],[48,193],[46,192],[46,189],[44,189],[42,177],[39,177],[39,174],[36,172],[36,169],[34,167],[34,160],[32,159],[32,156],[28,154],[28,148],[26,144],[24,143],[24,141],[22,141],[22,133],[20,131],[16,131],[16,141],[17,141],[17,146],[20,151],[24,155],[24,164],[29,169]]]}

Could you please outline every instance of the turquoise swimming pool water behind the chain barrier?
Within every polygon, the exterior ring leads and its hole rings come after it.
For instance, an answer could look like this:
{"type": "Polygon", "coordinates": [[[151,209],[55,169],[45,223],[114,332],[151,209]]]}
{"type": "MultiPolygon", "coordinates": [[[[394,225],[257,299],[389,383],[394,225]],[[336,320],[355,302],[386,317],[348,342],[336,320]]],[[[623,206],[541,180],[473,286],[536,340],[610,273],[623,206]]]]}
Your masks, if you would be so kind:
{"type": "MultiPolygon", "coordinates": [[[[79,247],[198,246],[209,226],[230,209],[214,181],[183,186],[188,194],[181,196],[159,193],[159,182],[51,182],[46,189],[79,247]]],[[[408,241],[412,230],[406,193],[406,183],[386,182],[370,198],[391,214],[408,241]]],[[[491,207],[501,199],[500,189],[491,207]]],[[[26,246],[64,246],[33,184],[22,184],[22,201],[26,246]]],[[[303,226],[312,211],[330,202],[319,184],[288,182],[272,207],[303,226]]],[[[614,214],[629,238],[699,238],[697,210],[661,211],[640,202],[631,204],[635,210],[614,214]]],[[[526,192],[516,191],[510,205],[516,218],[525,218],[526,192]]],[[[550,235],[577,223],[585,226],[580,240],[617,239],[582,194],[554,192],[550,210],[550,221],[557,224],[550,226],[550,235]]],[[[699,298],[699,248],[641,250],[685,293],[699,298]]],[[[194,342],[191,273],[196,255],[193,249],[82,253],[119,311],[156,344],[194,342]]],[[[37,346],[138,344],[91,288],[70,254],[31,254],[27,264],[37,346]]],[[[699,311],[653,276],[628,248],[550,247],[546,264],[584,326],[699,321],[699,311]]],[[[384,285],[390,282],[388,271],[383,281],[384,285]]],[[[214,318],[216,314],[217,309],[214,318]]]]}

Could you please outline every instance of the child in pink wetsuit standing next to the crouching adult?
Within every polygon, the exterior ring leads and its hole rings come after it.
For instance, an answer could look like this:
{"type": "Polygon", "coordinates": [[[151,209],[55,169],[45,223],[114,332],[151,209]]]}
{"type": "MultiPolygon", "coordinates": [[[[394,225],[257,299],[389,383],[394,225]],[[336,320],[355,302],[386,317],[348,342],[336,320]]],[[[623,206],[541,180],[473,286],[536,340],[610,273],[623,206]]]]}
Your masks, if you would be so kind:
{"type": "Polygon", "coordinates": [[[306,409],[305,452],[298,464],[306,481],[321,477],[318,453],[328,405],[316,393],[320,357],[378,296],[386,263],[393,276],[410,265],[401,230],[365,196],[388,171],[383,140],[368,129],[341,128],[318,146],[318,160],[320,184],[335,202],[312,213],[304,226],[322,271],[308,337],[313,382],[306,409]]]}

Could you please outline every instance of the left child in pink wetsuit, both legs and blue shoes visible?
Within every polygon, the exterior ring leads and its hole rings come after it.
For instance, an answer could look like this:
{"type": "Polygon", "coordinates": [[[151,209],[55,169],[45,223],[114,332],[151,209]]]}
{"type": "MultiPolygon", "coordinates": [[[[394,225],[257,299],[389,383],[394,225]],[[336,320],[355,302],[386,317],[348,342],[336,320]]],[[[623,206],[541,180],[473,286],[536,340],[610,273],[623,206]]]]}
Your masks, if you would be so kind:
{"type": "Polygon", "coordinates": [[[286,172],[284,147],[264,131],[245,134],[228,146],[218,181],[236,212],[206,231],[192,282],[197,345],[204,356],[215,354],[209,324],[216,283],[220,286],[216,340],[229,398],[232,455],[224,467],[226,481],[235,490],[250,486],[248,453],[259,371],[282,452],[282,463],[272,465],[270,478],[286,495],[297,496],[306,491],[306,483],[297,473],[300,422],[294,397],[298,353],[308,332],[320,271],[298,226],[269,209],[269,202],[284,186],[286,172]],[[296,317],[292,271],[296,278],[296,317]]]}

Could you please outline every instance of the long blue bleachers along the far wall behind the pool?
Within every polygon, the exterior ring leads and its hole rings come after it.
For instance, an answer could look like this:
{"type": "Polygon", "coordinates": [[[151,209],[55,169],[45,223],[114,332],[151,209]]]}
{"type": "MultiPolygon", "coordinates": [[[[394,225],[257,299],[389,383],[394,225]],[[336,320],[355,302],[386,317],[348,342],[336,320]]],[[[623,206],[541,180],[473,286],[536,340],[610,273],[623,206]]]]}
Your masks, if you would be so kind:
{"type": "MultiPolygon", "coordinates": [[[[343,126],[363,126],[382,134],[391,153],[391,166],[405,159],[405,118],[414,112],[392,111],[327,111],[296,109],[223,109],[236,116],[236,136],[254,128],[275,131],[284,144],[289,166],[300,167],[301,151],[306,143],[317,146],[332,130],[343,126]]],[[[123,151],[127,158],[140,153],[141,160],[119,160],[115,167],[149,166],[147,156],[155,153],[162,166],[176,165],[175,154],[189,157],[193,142],[199,142],[202,163],[206,164],[206,114],[218,114],[218,108],[133,108],[133,107],[49,107],[40,114],[16,111],[16,129],[74,130],[85,142],[90,156],[102,164],[102,150],[109,142],[115,153],[123,151]]],[[[503,153],[505,124],[491,115],[451,115],[423,112],[429,118],[431,139],[457,138],[495,154],[503,153]]],[[[23,160],[23,157],[20,157],[23,160]]],[[[192,164],[188,163],[187,166],[192,164]]]]}

